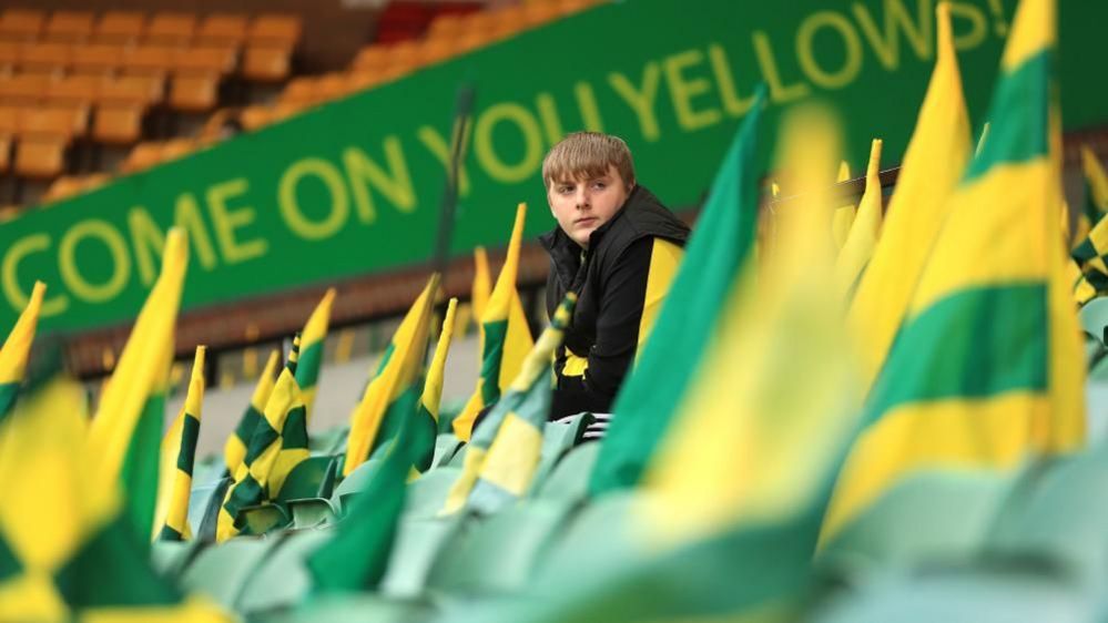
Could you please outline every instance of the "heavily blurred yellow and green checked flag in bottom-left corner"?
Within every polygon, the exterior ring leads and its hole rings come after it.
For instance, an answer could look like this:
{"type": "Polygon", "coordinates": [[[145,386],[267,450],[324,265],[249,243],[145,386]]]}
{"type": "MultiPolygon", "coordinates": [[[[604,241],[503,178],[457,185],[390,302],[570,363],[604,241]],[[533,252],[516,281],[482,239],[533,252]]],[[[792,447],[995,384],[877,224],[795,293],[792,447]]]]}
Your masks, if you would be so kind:
{"type": "Polygon", "coordinates": [[[230,621],[150,566],[88,446],[85,394],[55,376],[0,423],[0,620],[230,621]]]}

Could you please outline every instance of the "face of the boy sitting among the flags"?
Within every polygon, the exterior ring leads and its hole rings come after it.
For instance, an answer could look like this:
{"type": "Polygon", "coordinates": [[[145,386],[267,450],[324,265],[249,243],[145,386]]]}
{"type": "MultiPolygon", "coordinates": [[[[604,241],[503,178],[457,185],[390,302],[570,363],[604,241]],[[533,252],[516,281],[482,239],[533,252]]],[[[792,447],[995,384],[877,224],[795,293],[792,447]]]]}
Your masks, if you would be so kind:
{"type": "Polygon", "coordinates": [[[616,167],[609,166],[599,177],[552,181],[547,202],[561,231],[588,248],[589,236],[616,216],[630,192],[616,167]]]}

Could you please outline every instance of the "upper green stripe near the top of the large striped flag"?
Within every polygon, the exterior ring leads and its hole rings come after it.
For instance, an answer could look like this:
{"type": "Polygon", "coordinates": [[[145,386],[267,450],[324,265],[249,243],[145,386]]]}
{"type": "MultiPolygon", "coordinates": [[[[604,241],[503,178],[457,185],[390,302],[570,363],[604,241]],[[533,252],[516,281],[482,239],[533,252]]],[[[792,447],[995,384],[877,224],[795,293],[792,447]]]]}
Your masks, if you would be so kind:
{"type": "Polygon", "coordinates": [[[1000,76],[989,108],[988,140],[969,163],[963,183],[999,164],[1026,163],[1050,153],[1050,65],[1043,50],[1000,76]]]}

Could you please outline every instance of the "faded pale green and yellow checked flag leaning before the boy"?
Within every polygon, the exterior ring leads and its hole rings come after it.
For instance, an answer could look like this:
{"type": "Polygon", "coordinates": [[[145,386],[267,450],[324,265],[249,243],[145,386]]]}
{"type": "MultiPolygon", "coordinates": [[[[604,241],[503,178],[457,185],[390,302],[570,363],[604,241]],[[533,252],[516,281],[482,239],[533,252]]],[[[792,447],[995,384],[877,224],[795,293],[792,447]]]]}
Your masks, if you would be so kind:
{"type": "MultiPolygon", "coordinates": [[[[480,461],[467,508],[492,513],[522,498],[530,489],[542,450],[542,431],[550,415],[552,357],[561,345],[576,303],[573,293],[566,295],[550,326],[523,361],[523,369],[489,412],[489,431],[494,431],[495,425],[495,436],[480,461]]],[[[478,436],[484,431],[482,427],[478,436]]],[[[477,447],[475,438],[467,452],[477,447]]],[[[466,463],[471,464],[468,453],[466,459],[466,463]]]]}

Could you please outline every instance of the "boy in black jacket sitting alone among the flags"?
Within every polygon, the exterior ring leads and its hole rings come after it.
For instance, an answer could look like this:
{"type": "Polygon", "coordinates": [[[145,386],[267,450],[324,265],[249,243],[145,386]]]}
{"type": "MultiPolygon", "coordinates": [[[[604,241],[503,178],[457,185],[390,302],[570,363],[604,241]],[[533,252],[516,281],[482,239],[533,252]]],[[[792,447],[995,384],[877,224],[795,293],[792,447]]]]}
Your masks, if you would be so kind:
{"type": "Polygon", "coordinates": [[[689,227],[636,182],[627,144],[577,132],[542,161],[555,231],[547,312],[578,295],[555,361],[550,419],[607,413],[677,273],[689,227]]]}

